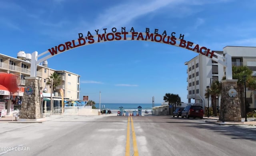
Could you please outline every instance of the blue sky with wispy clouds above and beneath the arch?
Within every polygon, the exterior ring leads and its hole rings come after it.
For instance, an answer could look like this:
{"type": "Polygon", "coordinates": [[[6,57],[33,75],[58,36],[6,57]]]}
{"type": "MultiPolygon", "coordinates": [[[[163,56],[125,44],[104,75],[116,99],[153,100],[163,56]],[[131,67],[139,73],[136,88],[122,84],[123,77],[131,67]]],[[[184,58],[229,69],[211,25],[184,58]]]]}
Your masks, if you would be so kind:
{"type": "MultiPolygon", "coordinates": [[[[256,46],[254,0],[0,0],[0,53],[16,57],[76,40],[78,33],[121,27],[159,29],[211,50],[256,46]]],[[[187,66],[197,53],[142,41],[74,48],[48,59],[48,67],[81,76],[80,98],[102,103],[163,102],[165,93],[187,102],[187,66]]]]}

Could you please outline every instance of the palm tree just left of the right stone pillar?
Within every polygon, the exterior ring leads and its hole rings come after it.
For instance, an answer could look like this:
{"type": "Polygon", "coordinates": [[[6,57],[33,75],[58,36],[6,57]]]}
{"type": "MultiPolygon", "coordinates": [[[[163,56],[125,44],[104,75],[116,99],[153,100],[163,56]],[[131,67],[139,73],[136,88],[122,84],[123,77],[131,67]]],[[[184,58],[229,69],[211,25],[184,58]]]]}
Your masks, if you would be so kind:
{"type": "MultiPolygon", "coordinates": [[[[211,87],[209,88],[209,95],[211,95],[212,99],[212,110],[214,113],[214,116],[217,116],[217,107],[216,107],[216,96],[220,96],[222,90],[222,83],[218,80],[212,82],[211,87]]],[[[208,90],[206,90],[206,93],[204,94],[206,98],[208,98],[208,90]]]]}

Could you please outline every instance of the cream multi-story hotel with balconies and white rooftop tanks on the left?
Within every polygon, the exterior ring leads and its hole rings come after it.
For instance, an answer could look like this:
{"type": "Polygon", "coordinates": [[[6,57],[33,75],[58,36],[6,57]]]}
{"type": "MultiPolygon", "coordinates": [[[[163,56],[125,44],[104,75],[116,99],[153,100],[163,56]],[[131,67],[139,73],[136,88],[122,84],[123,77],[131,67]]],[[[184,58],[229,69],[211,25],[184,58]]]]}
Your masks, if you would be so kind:
{"type": "MultiPolygon", "coordinates": [[[[26,54],[24,51],[18,52],[17,58],[13,58],[4,54],[0,54],[0,72],[12,73],[20,78],[20,92],[16,96],[23,96],[24,86],[26,83],[25,77],[30,76],[31,69],[31,54],[26,54]]],[[[80,76],[66,70],[54,70],[48,68],[47,61],[37,66],[37,76],[41,78],[41,92],[44,92],[45,97],[50,97],[50,86],[46,84],[50,75],[54,72],[62,77],[62,85],[58,86],[54,91],[53,98],[60,98],[60,88],[64,91],[64,99],[80,100],[80,76]]]]}

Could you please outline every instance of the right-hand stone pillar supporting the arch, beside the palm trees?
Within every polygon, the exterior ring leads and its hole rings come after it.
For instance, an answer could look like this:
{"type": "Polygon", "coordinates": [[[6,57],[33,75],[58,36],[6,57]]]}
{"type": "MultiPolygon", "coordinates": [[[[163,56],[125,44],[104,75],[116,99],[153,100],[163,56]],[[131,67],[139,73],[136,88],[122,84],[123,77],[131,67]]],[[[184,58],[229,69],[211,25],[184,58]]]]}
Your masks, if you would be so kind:
{"type": "Polygon", "coordinates": [[[242,120],[236,82],[237,80],[222,80],[220,121],[240,122],[242,120]],[[231,89],[236,90],[236,94],[235,92],[229,93],[231,89]]]}

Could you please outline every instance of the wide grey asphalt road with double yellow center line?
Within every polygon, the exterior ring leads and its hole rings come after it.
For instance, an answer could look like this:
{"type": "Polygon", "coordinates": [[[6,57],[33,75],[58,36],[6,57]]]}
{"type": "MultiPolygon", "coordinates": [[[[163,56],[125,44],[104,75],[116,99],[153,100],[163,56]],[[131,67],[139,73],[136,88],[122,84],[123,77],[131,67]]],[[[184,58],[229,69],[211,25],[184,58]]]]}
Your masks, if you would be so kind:
{"type": "Polygon", "coordinates": [[[131,117],[129,122],[128,116],[101,115],[2,123],[0,156],[256,155],[256,128],[170,116],[131,117]]]}

